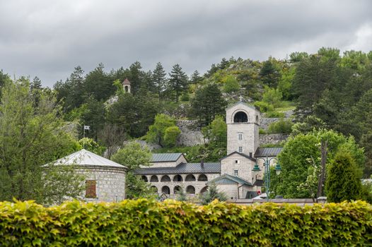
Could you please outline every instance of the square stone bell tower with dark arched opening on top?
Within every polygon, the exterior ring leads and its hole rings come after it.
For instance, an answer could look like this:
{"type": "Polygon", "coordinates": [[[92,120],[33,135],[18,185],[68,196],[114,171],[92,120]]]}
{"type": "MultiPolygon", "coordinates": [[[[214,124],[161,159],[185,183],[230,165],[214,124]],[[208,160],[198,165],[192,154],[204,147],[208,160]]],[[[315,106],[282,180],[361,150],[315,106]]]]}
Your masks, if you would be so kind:
{"type": "Polygon", "coordinates": [[[237,102],[226,109],[227,154],[240,152],[253,157],[259,145],[260,112],[237,102]]]}

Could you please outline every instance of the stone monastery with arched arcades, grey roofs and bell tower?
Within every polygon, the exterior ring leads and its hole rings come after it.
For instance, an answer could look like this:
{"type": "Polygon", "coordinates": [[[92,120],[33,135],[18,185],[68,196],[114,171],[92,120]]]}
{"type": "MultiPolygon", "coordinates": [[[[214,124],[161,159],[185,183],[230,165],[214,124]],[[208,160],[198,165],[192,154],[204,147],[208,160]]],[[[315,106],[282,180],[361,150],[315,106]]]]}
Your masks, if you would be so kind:
{"type": "Polygon", "coordinates": [[[136,174],[168,198],[181,189],[190,196],[204,193],[212,182],[228,200],[259,195],[265,169],[257,158],[276,157],[281,147],[259,147],[260,112],[249,104],[228,107],[226,123],[227,155],[219,162],[189,163],[182,153],[153,154],[151,167],[137,169],[136,174]],[[261,171],[252,171],[256,162],[261,171]]]}

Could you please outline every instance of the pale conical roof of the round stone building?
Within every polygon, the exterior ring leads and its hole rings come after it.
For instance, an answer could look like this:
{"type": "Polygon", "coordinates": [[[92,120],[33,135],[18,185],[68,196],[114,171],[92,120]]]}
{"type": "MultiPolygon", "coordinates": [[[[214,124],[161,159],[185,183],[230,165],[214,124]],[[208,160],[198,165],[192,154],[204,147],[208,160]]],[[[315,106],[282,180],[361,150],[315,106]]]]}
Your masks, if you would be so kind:
{"type": "Polygon", "coordinates": [[[57,159],[55,162],[51,163],[54,165],[79,165],[79,166],[98,166],[98,167],[117,167],[122,169],[127,169],[121,164],[111,161],[96,155],[93,152],[82,149],[78,152],[74,152],[71,155],[67,155],[61,159],[57,159]]]}

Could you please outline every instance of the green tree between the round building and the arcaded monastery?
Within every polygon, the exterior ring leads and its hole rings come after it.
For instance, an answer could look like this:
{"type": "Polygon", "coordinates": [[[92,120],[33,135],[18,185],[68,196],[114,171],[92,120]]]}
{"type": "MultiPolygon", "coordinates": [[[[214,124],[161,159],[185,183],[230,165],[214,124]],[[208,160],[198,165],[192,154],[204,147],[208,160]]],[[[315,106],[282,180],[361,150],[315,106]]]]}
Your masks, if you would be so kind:
{"type": "Polygon", "coordinates": [[[141,177],[134,174],[134,170],[140,166],[149,166],[151,160],[151,152],[148,147],[141,147],[139,143],[130,142],[112,155],[111,159],[114,162],[128,167],[125,177],[125,186],[127,198],[146,198],[153,196],[153,191],[150,184],[146,183],[141,177]]]}

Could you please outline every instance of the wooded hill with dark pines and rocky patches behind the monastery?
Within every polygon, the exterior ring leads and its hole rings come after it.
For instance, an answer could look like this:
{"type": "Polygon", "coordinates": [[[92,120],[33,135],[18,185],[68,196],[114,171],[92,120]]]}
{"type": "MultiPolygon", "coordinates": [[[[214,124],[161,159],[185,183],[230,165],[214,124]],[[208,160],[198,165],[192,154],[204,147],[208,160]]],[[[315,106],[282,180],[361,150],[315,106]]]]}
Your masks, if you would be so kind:
{"type": "MultiPolygon", "coordinates": [[[[10,79],[1,71],[1,85],[6,80],[10,79]]],[[[30,88],[49,90],[42,88],[38,78],[30,82],[30,88]]],[[[322,48],[316,54],[294,52],[288,59],[231,57],[212,64],[204,75],[194,71],[190,76],[179,64],[168,73],[161,63],[153,71],[144,71],[139,61],[112,71],[99,64],[88,73],[77,66],[52,91],[63,107],[64,120],[79,123],[78,138],[83,135],[82,126],[88,125],[91,130],[86,136],[105,147],[144,138],[180,150],[173,140],[178,131],[168,130],[165,141],[164,127],[174,126],[175,119],[197,119],[211,142],[185,147],[187,152],[198,159],[218,159],[226,151],[223,119],[216,116],[224,116],[224,108],[242,97],[267,117],[283,117],[284,111],[294,109],[296,131],[327,128],[354,136],[365,149],[365,176],[372,171],[372,52],[340,54],[338,49],[322,48]],[[130,94],[122,90],[125,78],[131,83],[130,94]]],[[[292,121],[283,120],[272,128],[291,132],[291,127],[292,121]]]]}

